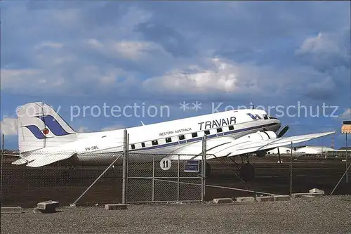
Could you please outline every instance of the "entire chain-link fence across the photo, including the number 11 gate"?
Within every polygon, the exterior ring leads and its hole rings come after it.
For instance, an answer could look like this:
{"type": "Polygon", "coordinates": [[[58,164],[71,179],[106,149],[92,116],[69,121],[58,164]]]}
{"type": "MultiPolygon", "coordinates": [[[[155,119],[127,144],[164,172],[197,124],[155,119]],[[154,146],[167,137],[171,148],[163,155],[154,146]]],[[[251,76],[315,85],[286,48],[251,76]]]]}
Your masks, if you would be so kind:
{"type": "MultiPolygon", "coordinates": [[[[93,156],[98,160],[98,155],[93,156]]],[[[171,161],[163,160],[169,156],[129,152],[128,202],[201,201],[202,198],[212,200],[216,197],[253,195],[252,191],[258,195],[289,195],[290,192],[306,193],[311,188],[330,194],[339,181],[333,194],[351,194],[351,170],[348,171],[348,183],[345,176],[340,180],[346,166],[343,154],[293,155],[292,160],[291,155],[282,154],[282,163],[279,163],[278,155],[251,156],[249,160],[255,168],[255,178],[250,181],[241,179],[241,157],[234,157],[234,161],[228,157],[207,160],[206,171],[209,167],[211,174],[206,176],[204,197],[201,197],[201,160],[197,167],[196,162],[185,164],[189,157],[184,155],[176,155],[176,158],[173,155],[171,161]],[[140,160],[140,156],[146,160],[140,160]],[[185,168],[191,164],[194,167],[185,168]]],[[[33,168],[25,164],[11,164],[15,160],[18,156],[5,155],[1,160],[1,205],[33,207],[44,200],[72,204],[107,169],[107,166],[69,167],[69,160],[33,168]]],[[[119,158],[77,204],[121,202],[121,164],[122,159],[119,158]]]]}

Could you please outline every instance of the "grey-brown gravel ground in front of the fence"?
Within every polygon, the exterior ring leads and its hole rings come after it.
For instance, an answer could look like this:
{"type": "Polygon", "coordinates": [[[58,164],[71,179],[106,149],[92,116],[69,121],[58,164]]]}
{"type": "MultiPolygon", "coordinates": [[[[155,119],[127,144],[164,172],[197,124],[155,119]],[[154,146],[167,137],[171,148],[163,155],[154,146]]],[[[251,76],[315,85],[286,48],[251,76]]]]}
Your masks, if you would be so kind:
{"type": "Polygon", "coordinates": [[[351,233],[351,195],[245,204],[60,207],[2,214],[1,233],[351,233]]]}

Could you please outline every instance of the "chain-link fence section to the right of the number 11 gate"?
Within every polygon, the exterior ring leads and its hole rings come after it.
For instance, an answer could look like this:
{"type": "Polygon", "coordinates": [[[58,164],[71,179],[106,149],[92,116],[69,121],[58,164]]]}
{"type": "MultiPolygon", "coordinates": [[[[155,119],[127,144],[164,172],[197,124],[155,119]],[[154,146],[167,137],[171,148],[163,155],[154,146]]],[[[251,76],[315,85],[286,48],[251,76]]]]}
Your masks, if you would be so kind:
{"type": "MultiPolygon", "coordinates": [[[[255,178],[250,181],[242,181],[240,178],[241,157],[234,157],[234,162],[227,157],[208,160],[211,176],[206,178],[205,200],[210,200],[213,196],[239,197],[253,194],[244,190],[255,190],[258,195],[290,195],[308,193],[312,188],[319,188],[330,194],[346,170],[345,155],[293,155],[291,158],[289,154],[282,154],[280,161],[279,155],[251,156],[249,160],[255,168],[255,178]]],[[[333,194],[351,194],[350,169],[347,173],[348,183],[344,176],[333,194]]]]}

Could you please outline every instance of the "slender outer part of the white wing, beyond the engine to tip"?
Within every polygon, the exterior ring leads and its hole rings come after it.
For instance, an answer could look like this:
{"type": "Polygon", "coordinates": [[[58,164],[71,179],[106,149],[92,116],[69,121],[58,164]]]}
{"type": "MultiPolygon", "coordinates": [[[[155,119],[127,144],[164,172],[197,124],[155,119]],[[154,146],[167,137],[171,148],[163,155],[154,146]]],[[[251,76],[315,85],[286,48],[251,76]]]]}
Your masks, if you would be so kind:
{"type": "Polygon", "coordinates": [[[300,143],[304,141],[310,141],[315,138],[319,138],[322,136],[328,136],[331,134],[335,134],[335,131],[329,131],[319,134],[306,134],[300,136],[289,136],[289,137],[281,137],[275,138],[265,141],[255,141],[255,142],[244,142],[237,145],[228,145],[228,148],[225,150],[221,150],[221,155],[227,155],[228,157],[243,155],[247,153],[254,153],[261,150],[270,150],[272,148],[277,148],[279,146],[291,145],[291,143],[300,143]]]}

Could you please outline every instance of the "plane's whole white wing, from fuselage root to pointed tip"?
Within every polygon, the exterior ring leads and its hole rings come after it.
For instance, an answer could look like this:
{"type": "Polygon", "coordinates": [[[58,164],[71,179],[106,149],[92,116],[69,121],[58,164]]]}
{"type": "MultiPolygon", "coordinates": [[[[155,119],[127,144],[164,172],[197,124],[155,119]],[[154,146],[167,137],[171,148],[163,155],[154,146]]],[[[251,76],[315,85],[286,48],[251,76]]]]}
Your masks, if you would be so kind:
{"type": "MultiPolygon", "coordinates": [[[[206,159],[213,159],[215,157],[232,157],[237,155],[243,155],[247,153],[254,153],[261,150],[270,150],[283,145],[290,145],[291,143],[300,143],[303,141],[310,141],[315,138],[322,136],[328,136],[335,134],[334,131],[324,132],[319,134],[306,134],[300,136],[289,136],[281,137],[263,141],[245,141],[241,143],[235,143],[235,139],[229,136],[211,139],[206,144],[206,159]]],[[[171,160],[201,160],[202,142],[193,143],[191,145],[185,145],[183,148],[178,148],[173,151],[173,155],[170,157],[171,160]]]]}

